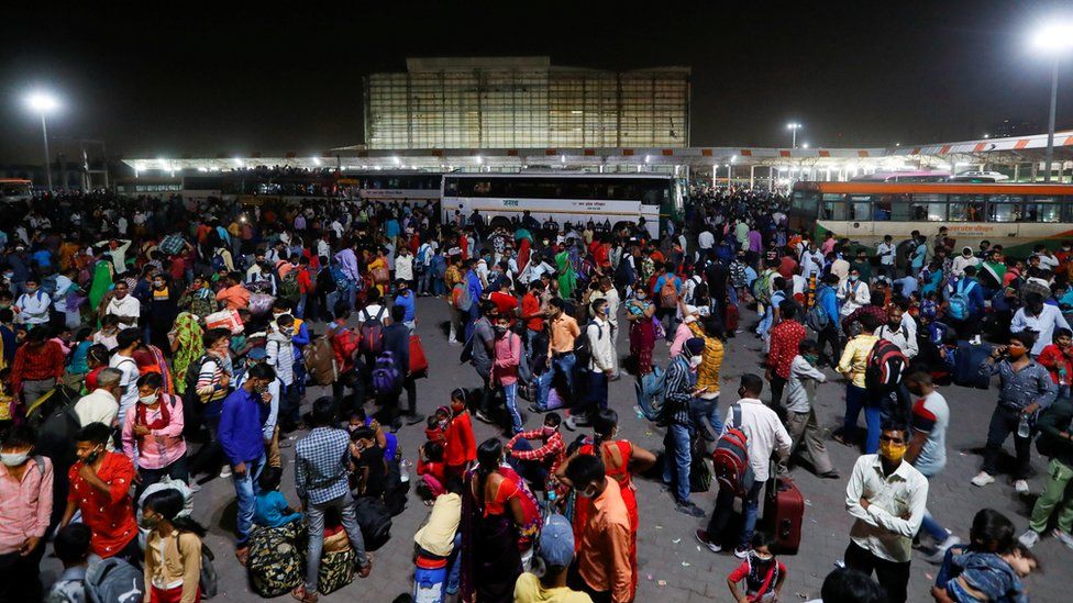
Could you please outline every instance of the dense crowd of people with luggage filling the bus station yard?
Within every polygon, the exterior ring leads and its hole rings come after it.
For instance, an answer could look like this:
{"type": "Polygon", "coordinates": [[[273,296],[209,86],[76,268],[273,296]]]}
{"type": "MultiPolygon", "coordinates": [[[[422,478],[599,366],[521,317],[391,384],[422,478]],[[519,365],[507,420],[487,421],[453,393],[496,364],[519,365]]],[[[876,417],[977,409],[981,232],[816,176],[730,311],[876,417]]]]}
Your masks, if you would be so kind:
{"type": "Polygon", "coordinates": [[[413,540],[418,601],[622,603],[641,521],[676,512],[704,526],[679,536],[738,559],[727,596],[787,600],[807,513],[792,470],[844,488],[853,520],[822,601],[1027,601],[1033,546],[1073,550],[1070,242],[818,239],[789,198],[744,189],[694,189],[655,236],[520,209],[34,199],[0,230],[0,600],[193,602],[237,563],[258,596],[316,602],[376,573],[391,537],[413,540]],[[444,332],[418,328],[432,303],[444,332]],[[455,346],[468,387],[422,395],[456,367],[422,337],[455,346]],[[721,378],[757,339],[763,365],[721,378]],[[635,405],[609,401],[620,379],[635,405]],[[834,379],[829,438],[816,394],[834,379]],[[950,383],[995,400],[980,472],[958,479],[1027,492],[1036,466],[1028,526],[981,509],[958,535],[929,513],[950,383]],[[634,421],[662,450],[619,435],[634,421]],[[838,466],[829,446],[861,454],[838,466]],[[213,479],[233,495],[210,499],[213,479]],[[233,550],[207,547],[195,510],[233,520],[233,550]],[[427,514],[416,534],[390,533],[403,512],[427,514]]]}

